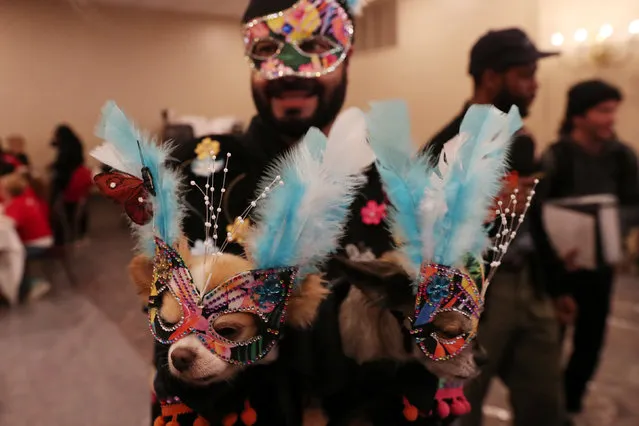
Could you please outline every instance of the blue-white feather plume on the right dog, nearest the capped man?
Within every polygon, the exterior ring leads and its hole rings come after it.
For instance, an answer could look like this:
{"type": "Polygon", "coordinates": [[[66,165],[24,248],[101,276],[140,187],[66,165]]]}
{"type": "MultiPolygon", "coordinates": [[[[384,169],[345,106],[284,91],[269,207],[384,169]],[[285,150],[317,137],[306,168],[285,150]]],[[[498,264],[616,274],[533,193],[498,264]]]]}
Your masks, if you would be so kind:
{"type": "Polygon", "coordinates": [[[516,107],[504,114],[473,105],[460,135],[443,151],[433,185],[423,203],[422,237],[426,261],[458,266],[468,254],[481,255],[487,238],[484,222],[500,189],[513,133],[522,125],[516,107]]]}

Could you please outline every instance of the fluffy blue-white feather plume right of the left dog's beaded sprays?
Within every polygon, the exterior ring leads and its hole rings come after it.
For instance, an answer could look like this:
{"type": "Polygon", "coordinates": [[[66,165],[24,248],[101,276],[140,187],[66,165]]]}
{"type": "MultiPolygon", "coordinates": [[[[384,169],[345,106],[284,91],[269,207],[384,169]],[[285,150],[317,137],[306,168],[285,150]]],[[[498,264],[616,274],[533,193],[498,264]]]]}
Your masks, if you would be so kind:
{"type": "Polygon", "coordinates": [[[300,265],[303,274],[314,272],[338,246],[371,156],[359,110],[345,111],[328,138],[311,128],[264,178],[268,183],[280,176],[284,184],[256,212],[259,225],[248,245],[256,267],[300,265]]]}

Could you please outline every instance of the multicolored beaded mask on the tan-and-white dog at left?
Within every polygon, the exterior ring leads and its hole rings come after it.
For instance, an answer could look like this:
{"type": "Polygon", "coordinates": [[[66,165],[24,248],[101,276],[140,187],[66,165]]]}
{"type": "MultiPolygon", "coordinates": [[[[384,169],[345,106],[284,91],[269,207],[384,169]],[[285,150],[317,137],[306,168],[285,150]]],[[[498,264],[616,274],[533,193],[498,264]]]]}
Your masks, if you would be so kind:
{"type": "Polygon", "coordinates": [[[266,356],[277,343],[286,320],[286,305],[297,268],[243,272],[200,295],[180,255],[160,239],[156,238],[156,244],[149,300],[149,323],[155,338],[171,344],[195,334],[213,354],[232,364],[249,365],[266,356]],[[181,318],[176,324],[164,323],[159,315],[166,292],[181,306],[181,318]],[[215,331],[217,319],[238,312],[256,317],[255,337],[237,342],[215,331]]]}

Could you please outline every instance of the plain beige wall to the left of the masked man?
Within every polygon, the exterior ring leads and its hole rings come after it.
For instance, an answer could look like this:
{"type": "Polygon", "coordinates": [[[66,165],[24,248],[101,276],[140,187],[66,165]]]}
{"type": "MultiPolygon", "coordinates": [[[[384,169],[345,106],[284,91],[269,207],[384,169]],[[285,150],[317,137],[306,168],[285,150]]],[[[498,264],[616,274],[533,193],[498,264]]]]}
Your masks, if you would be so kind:
{"type": "Polygon", "coordinates": [[[51,0],[0,1],[0,136],[23,133],[38,166],[62,121],[88,146],[101,106],[114,99],[142,127],[160,111],[237,114],[252,101],[236,22],[51,0]]]}

